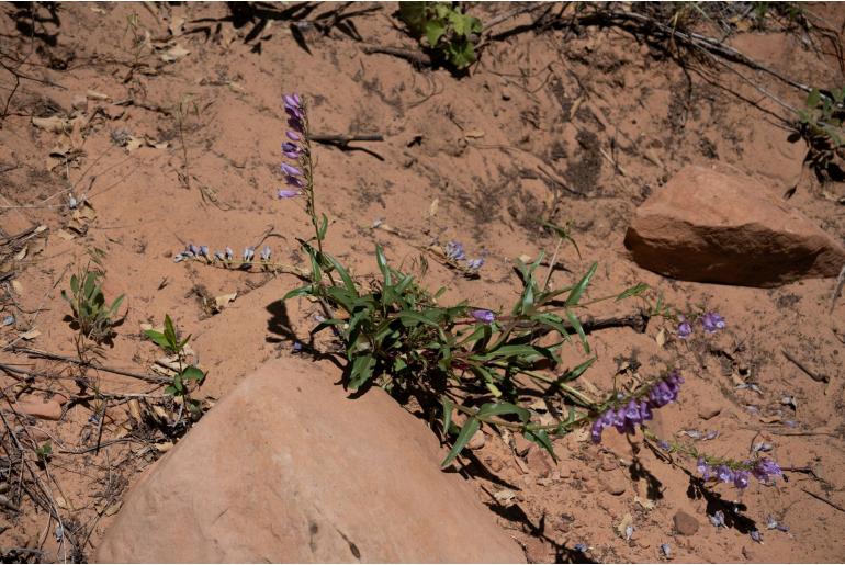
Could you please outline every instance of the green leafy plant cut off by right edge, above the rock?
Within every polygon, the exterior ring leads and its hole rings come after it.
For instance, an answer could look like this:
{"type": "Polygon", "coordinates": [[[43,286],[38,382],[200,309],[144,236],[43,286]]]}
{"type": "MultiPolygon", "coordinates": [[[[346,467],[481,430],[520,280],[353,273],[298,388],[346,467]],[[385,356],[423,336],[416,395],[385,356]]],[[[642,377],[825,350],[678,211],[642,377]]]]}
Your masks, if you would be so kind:
{"type": "Polygon", "coordinates": [[[799,112],[799,134],[808,145],[805,160],[812,165],[819,179],[845,179],[840,165],[845,159],[845,88],[826,92],[813,89],[807,97],[807,109],[799,112]]]}

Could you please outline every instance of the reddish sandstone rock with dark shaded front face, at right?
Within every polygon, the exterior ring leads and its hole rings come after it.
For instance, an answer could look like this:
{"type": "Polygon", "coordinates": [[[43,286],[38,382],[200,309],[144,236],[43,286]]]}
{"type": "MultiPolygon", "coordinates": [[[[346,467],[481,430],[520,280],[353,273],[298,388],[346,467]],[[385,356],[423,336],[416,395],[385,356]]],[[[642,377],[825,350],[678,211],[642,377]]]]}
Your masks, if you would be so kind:
{"type": "Polygon", "coordinates": [[[840,241],[756,180],[692,166],[636,210],[626,247],[650,271],[744,286],[836,276],[845,264],[840,241]]]}

